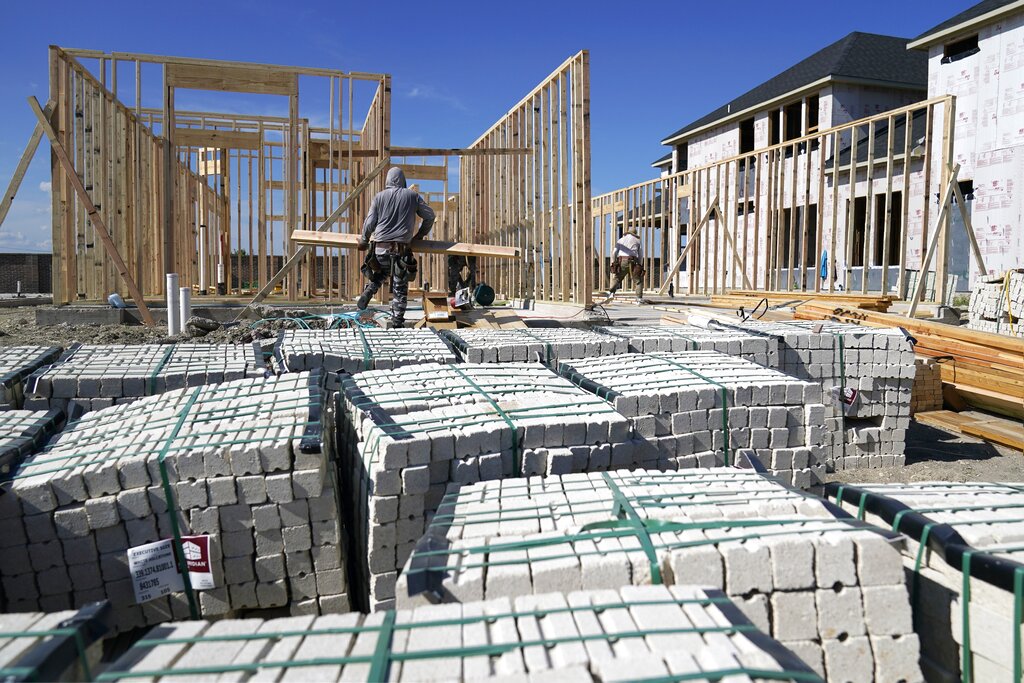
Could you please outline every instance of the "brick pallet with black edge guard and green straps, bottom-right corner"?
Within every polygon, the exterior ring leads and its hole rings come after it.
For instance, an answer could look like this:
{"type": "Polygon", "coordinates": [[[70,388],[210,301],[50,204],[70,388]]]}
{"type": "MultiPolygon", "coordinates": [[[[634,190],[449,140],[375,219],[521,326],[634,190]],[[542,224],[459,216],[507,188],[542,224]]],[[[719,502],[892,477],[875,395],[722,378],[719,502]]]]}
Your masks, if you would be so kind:
{"type": "Polygon", "coordinates": [[[868,522],[906,535],[903,563],[929,680],[1019,681],[1024,483],[829,484],[868,522]]]}

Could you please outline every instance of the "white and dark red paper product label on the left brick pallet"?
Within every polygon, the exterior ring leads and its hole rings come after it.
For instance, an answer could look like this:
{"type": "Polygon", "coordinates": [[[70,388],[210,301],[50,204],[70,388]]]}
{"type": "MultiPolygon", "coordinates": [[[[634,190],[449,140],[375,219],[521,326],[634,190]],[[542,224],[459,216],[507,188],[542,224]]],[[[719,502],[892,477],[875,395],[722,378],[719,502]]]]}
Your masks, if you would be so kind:
{"type": "MultiPolygon", "coordinates": [[[[131,572],[135,601],[139,604],[185,590],[174,559],[173,544],[171,539],[166,539],[128,549],[128,569],[131,572]]],[[[193,589],[205,591],[213,588],[210,537],[183,536],[181,550],[188,565],[188,581],[193,589]]]]}

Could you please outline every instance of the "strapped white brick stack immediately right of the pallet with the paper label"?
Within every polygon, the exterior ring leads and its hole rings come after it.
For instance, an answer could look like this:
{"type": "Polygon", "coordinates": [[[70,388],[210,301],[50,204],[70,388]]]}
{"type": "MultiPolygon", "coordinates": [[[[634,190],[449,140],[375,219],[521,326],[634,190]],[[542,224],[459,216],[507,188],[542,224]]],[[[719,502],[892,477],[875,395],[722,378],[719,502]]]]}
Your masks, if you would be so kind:
{"type": "Polygon", "coordinates": [[[636,465],[629,422],[537,364],[427,364],[345,378],[343,500],[367,608],[394,583],[450,482],[636,465]]]}

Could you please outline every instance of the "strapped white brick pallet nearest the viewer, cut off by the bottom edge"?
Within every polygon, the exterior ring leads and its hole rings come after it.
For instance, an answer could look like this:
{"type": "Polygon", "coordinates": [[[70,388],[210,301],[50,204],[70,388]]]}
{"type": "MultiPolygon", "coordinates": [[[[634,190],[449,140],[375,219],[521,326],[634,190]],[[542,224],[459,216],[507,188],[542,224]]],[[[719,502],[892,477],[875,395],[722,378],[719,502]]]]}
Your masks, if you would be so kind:
{"type": "Polygon", "coordinates": [[[817,681],[719,591],[628,586],[158,627],[100,680],[817,681]],[[220,680],[220,679],[218,679],[220,680]]]}

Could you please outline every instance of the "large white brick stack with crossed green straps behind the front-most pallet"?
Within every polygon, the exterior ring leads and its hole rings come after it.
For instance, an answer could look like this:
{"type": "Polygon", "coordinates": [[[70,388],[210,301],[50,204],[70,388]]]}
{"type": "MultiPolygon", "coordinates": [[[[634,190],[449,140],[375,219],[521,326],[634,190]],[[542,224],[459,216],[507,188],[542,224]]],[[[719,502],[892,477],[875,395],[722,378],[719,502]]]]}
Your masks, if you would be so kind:
{"type": "Polygon", "coordinates": [[[821,499],[749,471],[453,485],[402,571],[398,606],[711,587],[828,680],[919,680],[891,544],[821,499]]]}

